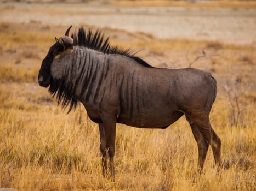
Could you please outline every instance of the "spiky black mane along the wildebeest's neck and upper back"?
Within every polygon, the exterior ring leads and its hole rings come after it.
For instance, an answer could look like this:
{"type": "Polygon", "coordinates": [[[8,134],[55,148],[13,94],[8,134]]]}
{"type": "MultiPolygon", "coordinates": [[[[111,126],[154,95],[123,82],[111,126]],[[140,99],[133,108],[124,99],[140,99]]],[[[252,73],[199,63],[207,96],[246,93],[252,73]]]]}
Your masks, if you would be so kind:
{"type": "Polygon", "coordinates": [[[93,33],[92,29],[84,31],[83,27],[80,27],[78,31],[78,45],[88,47],[89,49],[97,50],[106,54],[124,55],[134,59],[136,62],[138,62],[141,65],[144,65],[145,67],[153,68],[143,59],[141,59],[138,56],[135,56],[135,54],[132,53],[130,49],[123,50],[120,49],[120,47],[118,46],[111,46],[109,44],[109,37],[105,38],[104,34],[99,30],[93,33]]]}

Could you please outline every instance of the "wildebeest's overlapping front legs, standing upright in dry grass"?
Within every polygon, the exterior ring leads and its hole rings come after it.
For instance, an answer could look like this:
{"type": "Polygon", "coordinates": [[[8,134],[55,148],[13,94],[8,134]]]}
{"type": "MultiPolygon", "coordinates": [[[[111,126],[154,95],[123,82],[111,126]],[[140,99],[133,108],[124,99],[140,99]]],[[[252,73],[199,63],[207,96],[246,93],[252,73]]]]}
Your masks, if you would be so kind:
{"type": "Polygon", "coordinates": [[[100,129],[100,150],[102,155],[103,176],[115,180],[114,155],[116,141],[116,117],[103,115],[100,129]]]}

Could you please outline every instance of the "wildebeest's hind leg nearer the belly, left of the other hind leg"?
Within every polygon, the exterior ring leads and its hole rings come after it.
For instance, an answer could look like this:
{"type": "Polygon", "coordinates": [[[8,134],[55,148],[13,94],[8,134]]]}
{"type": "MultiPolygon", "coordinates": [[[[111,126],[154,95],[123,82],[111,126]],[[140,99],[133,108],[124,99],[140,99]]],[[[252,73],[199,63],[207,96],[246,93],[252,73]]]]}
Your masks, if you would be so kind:
{"type": "Polygon", "coordinates": [[[194,135],[194,138],[197,142],[197,147],[198,147],[198,162],[197,162],[197,167],[198,167],[198,172],[202,173],[203,171],[203,164],[204,161],[206,160],[206,154],[209,148],[209,143],[204,139],[204,136],[200,132],[199,128],[195,123],[192,123],[188,118],[186,118],[187,121],[190,124],[192,133],[194,135]]]}

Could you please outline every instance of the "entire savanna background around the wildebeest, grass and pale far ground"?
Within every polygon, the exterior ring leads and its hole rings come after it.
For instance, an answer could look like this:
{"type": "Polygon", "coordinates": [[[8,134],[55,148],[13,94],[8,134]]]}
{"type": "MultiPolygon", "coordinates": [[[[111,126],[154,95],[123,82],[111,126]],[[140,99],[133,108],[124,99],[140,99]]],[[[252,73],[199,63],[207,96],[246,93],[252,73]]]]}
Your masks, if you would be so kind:
{"type": "Polygon", "coordinates": [[[18,190],[253,190],[255,1],[0,1],[0,187],[18,190]],[[197,146],[184,118],[166,130],[118,124],[116,182],[101,177],[99,133],[83,107],[66,115],[38,70],[67,27],[100,29],[154,67],[210,71],[210,115],[223,141],[195,174],[197,146]]]}

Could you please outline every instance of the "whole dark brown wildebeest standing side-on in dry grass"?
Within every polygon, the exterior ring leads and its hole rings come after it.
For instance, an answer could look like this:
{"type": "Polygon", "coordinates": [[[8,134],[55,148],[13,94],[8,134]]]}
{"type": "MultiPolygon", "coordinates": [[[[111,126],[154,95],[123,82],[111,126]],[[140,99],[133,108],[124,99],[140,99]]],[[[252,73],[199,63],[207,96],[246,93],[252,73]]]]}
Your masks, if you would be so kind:
{"type": "Polygon", "coordinates": [[[220,138],[209,122],[217,86],[206,71],[154,68],[108,38],[81,27],[56,39],[43,59],[38,83],[62,107],[81,102],[99,124],[103,175],[114,178],[116,123],[165,129],[185,115],[198,146],[202,171],[209,145],[220,166],[220,138]]]}

